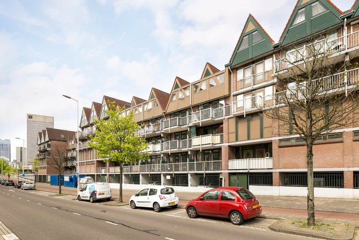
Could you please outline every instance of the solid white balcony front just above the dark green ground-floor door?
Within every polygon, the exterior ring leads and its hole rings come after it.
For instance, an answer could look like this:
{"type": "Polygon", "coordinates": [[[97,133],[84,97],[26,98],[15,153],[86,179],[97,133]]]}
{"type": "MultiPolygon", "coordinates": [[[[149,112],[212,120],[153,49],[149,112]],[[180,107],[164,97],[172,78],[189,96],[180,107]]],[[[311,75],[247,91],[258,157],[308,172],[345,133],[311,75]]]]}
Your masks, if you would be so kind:
{"type": "Polygon", "coordinates": [[[247,158],[228,160],[228,170],[272,169],[273,160],[266,158],[247,158]]]}

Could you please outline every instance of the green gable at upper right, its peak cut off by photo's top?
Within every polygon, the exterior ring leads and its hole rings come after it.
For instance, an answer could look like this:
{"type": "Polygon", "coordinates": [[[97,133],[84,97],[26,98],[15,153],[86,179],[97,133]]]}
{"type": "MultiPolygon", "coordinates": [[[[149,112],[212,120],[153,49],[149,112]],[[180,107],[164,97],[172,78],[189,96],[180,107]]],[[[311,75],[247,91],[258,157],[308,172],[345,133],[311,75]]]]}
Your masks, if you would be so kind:
{"type": "Polygon", "coordinates": [[[304,39],[308,35],[343,22],[341,20],[341,15],[343,14],[344,12],[338,9],[329,0],[298,0],[281,35],[280,46],[304,39]],[[325,11],[312,17],[312,4],[316,2],[325,8],[325,11]],[[302,9],[304,9],[304,21],[293,25],[298,12],[302,12],[302,9]]]}

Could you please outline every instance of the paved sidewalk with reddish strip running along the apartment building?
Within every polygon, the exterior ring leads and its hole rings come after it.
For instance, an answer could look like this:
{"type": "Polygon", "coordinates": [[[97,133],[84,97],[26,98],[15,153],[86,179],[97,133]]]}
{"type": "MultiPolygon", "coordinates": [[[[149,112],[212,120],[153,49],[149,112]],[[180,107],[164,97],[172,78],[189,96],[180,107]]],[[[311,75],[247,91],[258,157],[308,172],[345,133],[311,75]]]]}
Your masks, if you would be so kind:
{"type": "MultiPolygon", "coordinates": [[[[37,190],[58,193],[58,186],[49,183],[36,183],[37,190]]],[[[76,189],[61,187],[62,193],[76,196],[76,189]]],[[[138,190],[123,189],[123,203],[118,202],[118,189],[112,189],[112,201],[107,205],[127,205],[130,196],[138,190]]],[[[200,193],[177,192],[179,197],[178,208],[185,208],[187,201],[200,193]]],[[[359,200],[337,198],[315,198],[315,222],[318,226],[311,229],[303,227],[307,222],[306,197],[286,196],[256,196],[260,201],[263,212],[258,218],[277,219],[269,228],[277,232],[286,232],[295,235],[318,237],[326,239],[357,239],[353,238],[355,227],[359,229],[359,200]]],[[[75,199],[75,197],[74,197],[75,199]]]]}

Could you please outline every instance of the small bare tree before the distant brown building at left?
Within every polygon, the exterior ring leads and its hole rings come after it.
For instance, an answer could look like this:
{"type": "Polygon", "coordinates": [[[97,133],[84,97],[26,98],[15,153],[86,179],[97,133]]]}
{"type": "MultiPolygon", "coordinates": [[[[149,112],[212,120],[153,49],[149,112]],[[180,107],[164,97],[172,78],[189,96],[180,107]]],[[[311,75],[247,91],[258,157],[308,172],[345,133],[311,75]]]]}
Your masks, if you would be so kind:
{"type": "Polygon", "coordinates": [[[51,154],[47,160],[49,167],[54,168],[58,173],[58,194],[61,194],[61,172],[65,168],[66,142],[52,141],[51,154]]]}

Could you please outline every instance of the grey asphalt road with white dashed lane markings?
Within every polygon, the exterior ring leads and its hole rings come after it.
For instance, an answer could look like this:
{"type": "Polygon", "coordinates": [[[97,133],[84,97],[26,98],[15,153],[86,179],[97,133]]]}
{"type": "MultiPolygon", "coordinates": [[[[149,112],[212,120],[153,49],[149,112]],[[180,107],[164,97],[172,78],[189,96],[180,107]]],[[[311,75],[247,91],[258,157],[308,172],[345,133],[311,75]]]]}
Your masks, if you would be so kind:
{"type": "Polygon", "coordinates": [[[227,219],[190,219],[184,209],[155,213],[39,193],[0,186],[0,221],[20,239],[308,239],[272,232],[272,219],[235,226],[227,219]]]}

